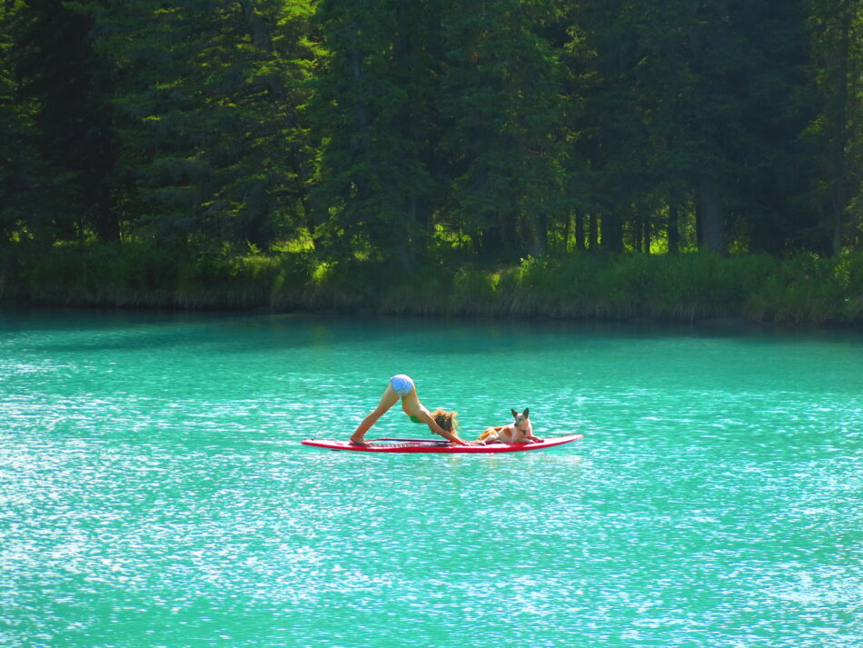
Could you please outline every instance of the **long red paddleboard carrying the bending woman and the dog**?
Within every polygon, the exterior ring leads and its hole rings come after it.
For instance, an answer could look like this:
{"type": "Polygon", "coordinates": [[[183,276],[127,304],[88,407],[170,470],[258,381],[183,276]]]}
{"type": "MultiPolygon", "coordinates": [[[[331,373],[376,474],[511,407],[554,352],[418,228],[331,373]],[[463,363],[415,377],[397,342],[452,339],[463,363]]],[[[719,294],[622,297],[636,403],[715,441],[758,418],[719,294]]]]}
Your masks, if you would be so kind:
{"type": "Polygon", "coordinates": [[[352,445],[348,441],[333,439],[306,439],[301,442],[311,448],[322,450],[346,450],[352,453],[439,453],[439,454],[494,454],[494,453],[526,453],[534,450],[546,450],[558,445],[570,444],[583,438],[584,434],[569,434],[553,436],[539,444],[488,444],[488,445],[458,445],[448,441],[432,441],[425,439],[370,439],[369,446],[352,445]]]}

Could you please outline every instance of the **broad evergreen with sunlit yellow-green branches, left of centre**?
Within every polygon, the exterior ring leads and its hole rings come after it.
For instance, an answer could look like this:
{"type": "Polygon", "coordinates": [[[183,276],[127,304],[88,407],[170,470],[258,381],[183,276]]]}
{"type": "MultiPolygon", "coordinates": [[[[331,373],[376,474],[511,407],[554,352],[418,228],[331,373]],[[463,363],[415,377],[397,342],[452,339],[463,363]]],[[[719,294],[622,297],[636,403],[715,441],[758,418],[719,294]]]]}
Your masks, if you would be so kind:
{"type": "Polygon", "coordinates": [[[89,5],[123,78],[115,104],[139,226],[268,248],[303,223],[312,154],[300,105],[310,2],[89,5]]]}

